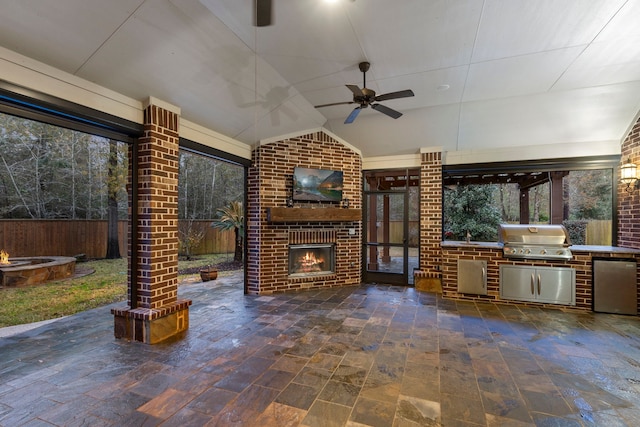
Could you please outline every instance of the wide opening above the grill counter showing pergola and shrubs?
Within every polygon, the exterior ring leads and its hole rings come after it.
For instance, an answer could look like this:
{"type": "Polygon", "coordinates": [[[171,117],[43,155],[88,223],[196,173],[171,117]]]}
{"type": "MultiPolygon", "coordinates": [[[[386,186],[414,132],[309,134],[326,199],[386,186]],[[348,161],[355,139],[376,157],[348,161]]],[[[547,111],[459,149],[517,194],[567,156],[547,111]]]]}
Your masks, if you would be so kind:
{"type": "Polygon", "coordinates": [[[445,166],[443,238],[496,241],[500,223],[563,224],[572,244],[612,245],[617,156],[445,166]]]}

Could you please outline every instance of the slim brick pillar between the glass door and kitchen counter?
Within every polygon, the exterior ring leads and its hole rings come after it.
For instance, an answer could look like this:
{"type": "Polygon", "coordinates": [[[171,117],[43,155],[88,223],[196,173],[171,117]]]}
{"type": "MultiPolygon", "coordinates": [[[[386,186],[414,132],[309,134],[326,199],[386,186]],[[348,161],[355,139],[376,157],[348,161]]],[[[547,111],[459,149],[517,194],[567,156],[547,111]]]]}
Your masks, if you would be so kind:
{"type": "Polygon", "coordinates": [[[423,152],[420,162],[420,270],[416,289],[442,292],[442,152],[423,152]]]}

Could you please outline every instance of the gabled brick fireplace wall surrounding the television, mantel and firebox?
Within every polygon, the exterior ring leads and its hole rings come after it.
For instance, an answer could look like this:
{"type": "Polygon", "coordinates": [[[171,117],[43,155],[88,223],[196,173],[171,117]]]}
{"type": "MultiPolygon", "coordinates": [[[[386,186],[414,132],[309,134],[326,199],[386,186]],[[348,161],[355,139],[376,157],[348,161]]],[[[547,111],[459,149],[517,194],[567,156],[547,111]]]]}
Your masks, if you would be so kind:
{"type": "MultiPolygon", "coordinates": [[[[247,293],[272,294],[297,289],[359,284],[361,281],[361,221],[267,221],[266,209],[283,207],[291,197],[296,166],[343,172],[343,197],[350,207],[362,208],[360,155],[323,132],[258,146],[248,173],[247,293]],[[349,235],[355,229],[355,235],[349,235]],[[336,238],[336,272],[331,275],[290,278],[289,243],[300,235],[336,238]]],[[[292,209],[335,207],[336,204],[296,202],[292,209]]],[[[311,243],[311,242],[310,242],[311,243]]]]}

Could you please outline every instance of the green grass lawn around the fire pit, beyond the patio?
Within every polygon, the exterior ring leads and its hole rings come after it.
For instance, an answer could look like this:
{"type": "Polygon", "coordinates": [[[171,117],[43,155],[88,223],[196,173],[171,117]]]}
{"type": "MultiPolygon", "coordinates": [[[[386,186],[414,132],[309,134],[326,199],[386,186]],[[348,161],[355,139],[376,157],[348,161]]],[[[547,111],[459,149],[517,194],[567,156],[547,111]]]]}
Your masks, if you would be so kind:
{"type": "MultiPolygon", "coordinates": [[[[228,264],[233,255],[198,255],[192,261],[178,261],[179,272],[197,271],[205,265],[228,264]]],[[[82,277],[37,286],[0,288],[0,327],[55,319],[127,299],[127,259],[79,263],[82,277]]],[[[181,274],[185,280],[197,273],[181,274]]],[[[76,274],[78,276],[79,274],[76,274]]]]}

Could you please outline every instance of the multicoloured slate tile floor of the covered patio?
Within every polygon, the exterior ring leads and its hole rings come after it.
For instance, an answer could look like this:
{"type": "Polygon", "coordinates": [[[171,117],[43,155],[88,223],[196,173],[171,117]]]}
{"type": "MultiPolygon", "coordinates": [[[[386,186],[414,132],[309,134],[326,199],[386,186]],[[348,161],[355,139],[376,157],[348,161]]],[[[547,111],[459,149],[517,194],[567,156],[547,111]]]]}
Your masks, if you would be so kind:
{"type": "Polygon", "coordinates": [[[0,338],[2,426],[638,426],[640,319],[362,285],[185,284],[191,327],[113,338],[110,307],[0,338]]]}

